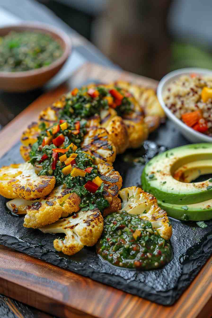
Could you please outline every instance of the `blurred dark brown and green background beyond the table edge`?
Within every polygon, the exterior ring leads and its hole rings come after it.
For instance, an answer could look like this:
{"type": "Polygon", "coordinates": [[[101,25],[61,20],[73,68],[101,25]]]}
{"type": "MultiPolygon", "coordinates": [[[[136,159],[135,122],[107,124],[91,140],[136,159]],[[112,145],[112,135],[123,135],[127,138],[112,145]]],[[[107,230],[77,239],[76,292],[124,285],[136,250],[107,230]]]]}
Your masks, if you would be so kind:
{"type": "Polygon", "coordinates": [[[212,68],[211,0],[39,0],[127,71],[212,68]]]}

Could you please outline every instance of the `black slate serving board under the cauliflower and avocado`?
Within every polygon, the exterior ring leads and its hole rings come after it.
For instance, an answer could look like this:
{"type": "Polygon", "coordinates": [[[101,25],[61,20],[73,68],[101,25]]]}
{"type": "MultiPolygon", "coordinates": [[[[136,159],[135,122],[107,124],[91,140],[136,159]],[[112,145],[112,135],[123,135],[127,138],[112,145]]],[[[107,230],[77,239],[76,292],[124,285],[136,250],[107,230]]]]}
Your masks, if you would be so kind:
{"type": "MultiPolygon", "coordinates": [[[[160,140],[160,143],[169,148],[188,143],[172,128],[169,121],[151,138],[157,142],[160,140]]],[[[19,146],[19,143],[16,144],[0,159],[0,166],[23,161],[19,146]]],[[[128,154],[142,156],[145,163],[158,152],[164,151],[165,146],[145,142],[140,150],[129,150],[128,154]]],[[[144,164],[124,162],[124,156],[118,156],[114,168],[123,177],[123,187],[140,185],[144,164]]],[[[159,304],[172,305],[212,253],[212,221],[206,222],[208,227],[201,229],[195,224],[171,219],[174,256],[161,269],[140,272],[115,267],[102,261],[96,255],[94,247],[84,248],[71,257],[66,256],[53,249],[53,239],[57,235],[24,228],[23,217],[7,211],[6,201],[7,199],[0,197],[0,244],[159,304]]]]}

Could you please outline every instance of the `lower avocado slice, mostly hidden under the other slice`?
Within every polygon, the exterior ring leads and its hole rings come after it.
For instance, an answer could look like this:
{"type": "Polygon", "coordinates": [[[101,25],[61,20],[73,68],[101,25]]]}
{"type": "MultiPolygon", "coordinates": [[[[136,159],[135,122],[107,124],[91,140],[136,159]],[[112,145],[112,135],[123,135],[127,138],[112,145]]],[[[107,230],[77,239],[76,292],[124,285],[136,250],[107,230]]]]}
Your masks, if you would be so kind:
{"type": "Polygon", "coordinates": [[[205,221],[212,218],[212,199],[184,206],[158,200],[158,205],[168,216],[182,221],[205,221]]]}

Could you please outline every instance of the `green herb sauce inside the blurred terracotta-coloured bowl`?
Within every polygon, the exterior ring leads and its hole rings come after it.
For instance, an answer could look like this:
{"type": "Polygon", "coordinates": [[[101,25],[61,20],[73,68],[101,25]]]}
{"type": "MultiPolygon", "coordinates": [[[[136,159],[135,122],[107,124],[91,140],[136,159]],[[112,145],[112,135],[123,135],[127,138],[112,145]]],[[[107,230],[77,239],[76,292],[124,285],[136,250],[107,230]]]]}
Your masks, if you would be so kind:
{"type": "Polygon", "coordinates": [[[48,66],[63,54],[59,43],[41,32],[15,32],[0,38],[0,71],[21,72],[48,66]]]}

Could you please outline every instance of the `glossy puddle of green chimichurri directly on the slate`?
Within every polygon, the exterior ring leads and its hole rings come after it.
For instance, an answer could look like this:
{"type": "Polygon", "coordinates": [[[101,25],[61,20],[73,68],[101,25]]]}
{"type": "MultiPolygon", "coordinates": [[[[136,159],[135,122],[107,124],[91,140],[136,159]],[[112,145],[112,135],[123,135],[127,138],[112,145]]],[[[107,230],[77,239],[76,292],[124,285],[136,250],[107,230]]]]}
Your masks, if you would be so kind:
{"type": "Polygon", "coordinates": [[[143,270],[164,266],[172,258],[169,242],[161,238],[151,222],[126,211],[104,219],[97,253],[113,265],[143,270]]]}

